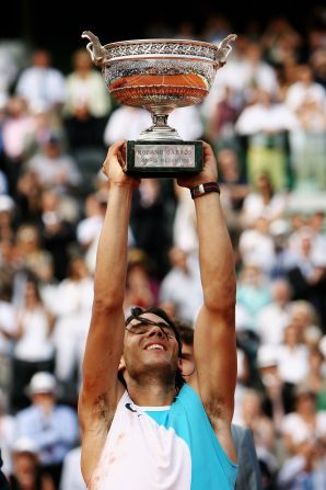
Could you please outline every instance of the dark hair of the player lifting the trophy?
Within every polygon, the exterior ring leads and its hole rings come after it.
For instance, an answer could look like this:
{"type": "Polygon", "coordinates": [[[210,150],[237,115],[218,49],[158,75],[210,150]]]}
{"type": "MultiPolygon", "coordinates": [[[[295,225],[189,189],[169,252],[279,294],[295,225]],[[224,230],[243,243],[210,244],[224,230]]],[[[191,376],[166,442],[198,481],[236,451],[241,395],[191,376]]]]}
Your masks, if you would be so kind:
{"type": "MultiPolygon", "coordinates": [[[[177,341],[177,345],[178,345],[178,356],[181,357],[182,347],[183,347],[181,332],[179,332],[177,326],[175,324],[175,322],[170,318],[170,316],[162,308],[159,308],[156,306],[152,306],[150,308],[140,308],[140,307],[131,308],[131,312],[125,321],[125,327],[127,327],[127,324],[130,323],[130,321],[133,319],[140,320],[140,317],[144,314],[156,315],[158,317],[162,318],[162,320],[164,320],[172,328],[172,330],[175,334],[176,341],[177,341]]],[[[164,334],[165,334],[165,332],[164,332],[164,334]]],[[[120,372],[118,373],[118,378],[123,383],[125,388],[127,388],[125,378],[120,372]]],[[[177,369],[175,373],[175,388],[176,388],[176,390],[179,391],[179,389],[183,387],[184,384],[185,384],[185,379],[183,378],[179,369],[177,369]]]]}

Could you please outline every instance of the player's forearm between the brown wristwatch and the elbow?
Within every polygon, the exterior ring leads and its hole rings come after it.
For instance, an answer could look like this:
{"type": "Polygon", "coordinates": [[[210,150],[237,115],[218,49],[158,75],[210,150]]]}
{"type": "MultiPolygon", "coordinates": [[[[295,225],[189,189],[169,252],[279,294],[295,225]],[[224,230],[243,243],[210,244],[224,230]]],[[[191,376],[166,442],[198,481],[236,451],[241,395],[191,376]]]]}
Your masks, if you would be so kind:
{"type": "Polygon", "coordinates": [[[229,308],[235,303],[235,266],[220,196],[213,192],[197,197],[195,206],[205,303],[229,308]]]}

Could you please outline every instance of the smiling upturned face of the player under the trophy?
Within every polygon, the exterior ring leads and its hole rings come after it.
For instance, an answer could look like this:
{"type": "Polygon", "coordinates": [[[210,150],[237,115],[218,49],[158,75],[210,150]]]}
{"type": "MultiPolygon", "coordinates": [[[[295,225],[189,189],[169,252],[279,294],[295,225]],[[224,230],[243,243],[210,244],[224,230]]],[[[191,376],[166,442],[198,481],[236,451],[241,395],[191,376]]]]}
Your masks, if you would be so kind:
{"type": "Polygon", "coordinates": [[[158,373],[174,379],[181,360],[173,329],[154,314],[132,319],[126,327],[123,365],[131,377],[158,373]]]}

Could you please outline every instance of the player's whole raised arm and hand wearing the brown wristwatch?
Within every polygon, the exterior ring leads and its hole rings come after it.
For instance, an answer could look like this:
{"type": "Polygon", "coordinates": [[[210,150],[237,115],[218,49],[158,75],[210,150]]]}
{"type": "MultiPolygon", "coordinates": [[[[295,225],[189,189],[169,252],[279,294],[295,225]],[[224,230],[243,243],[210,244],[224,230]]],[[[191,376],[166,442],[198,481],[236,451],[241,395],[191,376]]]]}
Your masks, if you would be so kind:
{"type": "MultiPolygon", "coordinates": [[[[212,149],[203,143],[205,166],[196,176],[178,184],[197,189],[207,184],[216,189],[217,162],[212,149]]],[[[202,187],[197,190],[201,194],[202,187]]],[[[234,409],[236,383],[235,343],[235,266],[232,244],[218,192],[193,196],[197,216],[199,262],[203,305],[195,326],[194,354],[197,387],[208,417],[226,454],[235,459],[230,424],[234,409]]]]}

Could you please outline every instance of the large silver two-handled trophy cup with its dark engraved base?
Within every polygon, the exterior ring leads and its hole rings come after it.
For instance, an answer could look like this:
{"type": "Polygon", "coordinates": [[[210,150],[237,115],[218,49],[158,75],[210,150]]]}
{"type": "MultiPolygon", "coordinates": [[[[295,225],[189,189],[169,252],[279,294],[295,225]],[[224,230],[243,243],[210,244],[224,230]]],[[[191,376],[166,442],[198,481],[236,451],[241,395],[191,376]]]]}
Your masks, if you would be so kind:
{"type": "Polygon", "coordinates": [[[230,34],[219,46],[188,39],[138,39],[101,45],[90,31],[82,37],[94,65],[102,68],[109,93],[121,104],[147,109],[152,126],[127,141],[126,173],[177,176],[202,169],[201,141],[184,141],[167,125],[176,107],[200,103],[217,70],[232,50],[230,34]]]}

